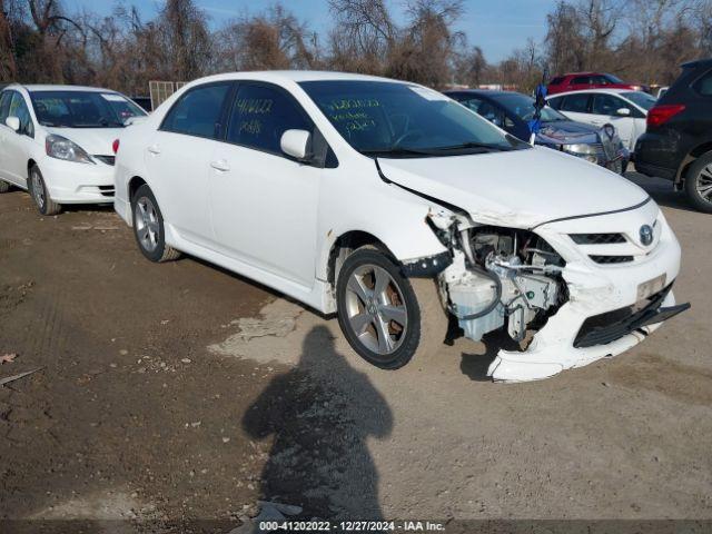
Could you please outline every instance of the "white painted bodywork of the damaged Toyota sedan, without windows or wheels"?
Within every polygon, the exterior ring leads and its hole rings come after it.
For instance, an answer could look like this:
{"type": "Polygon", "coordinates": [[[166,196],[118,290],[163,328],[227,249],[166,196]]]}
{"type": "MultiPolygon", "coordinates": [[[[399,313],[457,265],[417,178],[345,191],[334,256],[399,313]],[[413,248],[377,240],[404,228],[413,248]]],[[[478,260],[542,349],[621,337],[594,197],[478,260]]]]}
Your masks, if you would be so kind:
{"type": "MultiPolygon", "coordinates": [[[[384,180],[376,162],[354,150],[297,85],[316,79],[374,78],[246,72],[198,80],[178,91],[122,136],[116,166],[117,212],[131,224],[129,188],[138,177],[156,195],[169,245],[328,314],[336,309],[327,281],[328,259],[339,236],[368,233],[403,263],[441,254],[446,248],[425,219],[431,208],[449,204],[477,224],[534,229],[567,264],[563,276],[570,301],[550,318],[527,352],[498,354],[491,368],[495,379],[544,378],[641,340],[627,336],[584,350],[572,345],[587,317],[633,304],[643,281],[663,273],[669,283],[678,276],[678,241],[642,189],[601,167],[545,148],[379,159],[384,180]],[[221,141],[158,132],[168,109],[190,87],[240,79],[288,90],[326,138],[338,167],[319,169],[221,141]],[[156,146],[158,155],[149,151],[156,146]],[[557,219],[564,220],[551,222],[557,219]],[[636,259],[631,265],[597,265],[567,236],[600,231],[637,236],[641,225],[655,220],[660,229],[652,251],[632,246],[636,259]]],[[[671,294],[669,301],[672,298],[671,294]]]]}

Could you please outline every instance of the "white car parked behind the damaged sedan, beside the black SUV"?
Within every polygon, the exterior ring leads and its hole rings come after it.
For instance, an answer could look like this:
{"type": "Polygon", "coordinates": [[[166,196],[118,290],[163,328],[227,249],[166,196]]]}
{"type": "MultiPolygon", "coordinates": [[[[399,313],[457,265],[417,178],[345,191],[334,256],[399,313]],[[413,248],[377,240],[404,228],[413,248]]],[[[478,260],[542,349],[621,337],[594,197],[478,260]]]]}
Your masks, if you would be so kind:
{"type": "Polygon", "coordinates": [[[655,98],[630,89],[590,89],[553,95],[548,105],[572,120],[593,126],[613,125],[634,158],[635,141],[645,132],[647,110],[655,98]]]}

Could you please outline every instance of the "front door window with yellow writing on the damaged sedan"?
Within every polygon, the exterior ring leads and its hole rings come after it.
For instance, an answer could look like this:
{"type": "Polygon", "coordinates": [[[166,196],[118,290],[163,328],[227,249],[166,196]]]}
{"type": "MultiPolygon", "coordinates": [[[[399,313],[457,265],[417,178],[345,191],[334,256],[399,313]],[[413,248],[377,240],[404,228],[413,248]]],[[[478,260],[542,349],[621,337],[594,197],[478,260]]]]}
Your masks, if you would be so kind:
{"type": "Polygon", "coordinates": [[[313,129],[291,97],[268,86],[239,86],[228,121],[229,142],[281,155],[281,135],[290,129],[313,129]]]}

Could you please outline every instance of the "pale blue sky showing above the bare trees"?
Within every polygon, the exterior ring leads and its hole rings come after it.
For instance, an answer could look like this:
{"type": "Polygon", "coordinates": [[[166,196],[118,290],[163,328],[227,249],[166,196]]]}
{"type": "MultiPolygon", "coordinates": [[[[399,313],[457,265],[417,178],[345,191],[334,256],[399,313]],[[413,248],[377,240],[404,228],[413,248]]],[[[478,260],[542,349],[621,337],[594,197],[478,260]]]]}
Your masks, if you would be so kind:
{"type": "MultiPolygon", "coordinates": [[[[121,0],[65,0],[70,12],[87,9],[100,14],[110,14],[121,0]]],[[[141,14],[150,18],[160,8],[160,0],[122,0],[125,4],[137,6],[141,14]]],[[[387,0],[396,21],[404,17],[402,0],[387,0]]],[[[275,0],[195,0],[205,10],[210,23],[219,27],[225,21],[245,13],[259,13],[275,3],[275,0]]],[[[319,33],[329,29],[332,17],[327,0],[283,0],[288,8],[309,28],[319,33]]],[[[546,13],[555,0],[464,0],[465,12],[456,29],[465,32],[471,44],[482,47],[485,58],[496,62],[506,58],[512,50],[525,44],[528,37],[542,41],[546,34],[546,13]]]]}

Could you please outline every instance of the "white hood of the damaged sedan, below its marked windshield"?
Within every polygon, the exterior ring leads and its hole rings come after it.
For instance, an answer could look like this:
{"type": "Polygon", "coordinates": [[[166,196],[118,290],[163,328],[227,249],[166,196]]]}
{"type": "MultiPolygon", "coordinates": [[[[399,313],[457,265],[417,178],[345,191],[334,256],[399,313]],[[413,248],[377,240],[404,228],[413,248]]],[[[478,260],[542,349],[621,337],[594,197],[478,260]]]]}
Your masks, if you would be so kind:
{"type": "Polygon", "coordinates": [[[382,159],[383,178],[456,206],[482,224],[533,228],[636,206],[647,194],[625,178],[548,148],[438,158],[382,159]]]}

